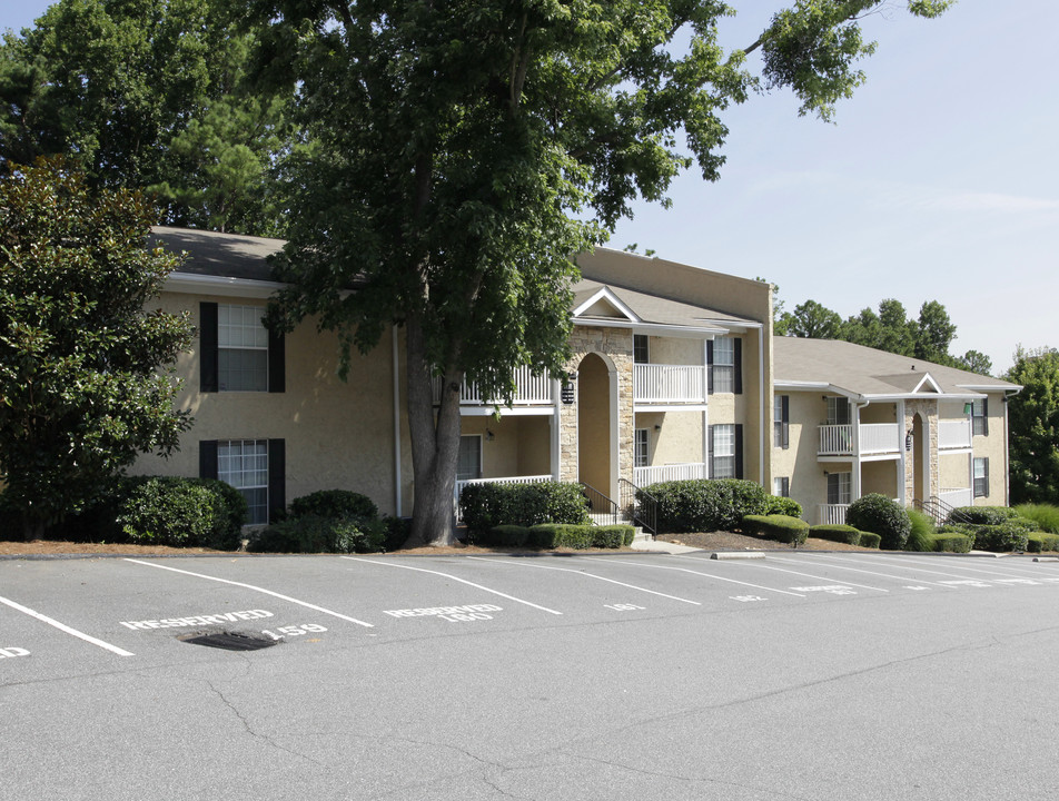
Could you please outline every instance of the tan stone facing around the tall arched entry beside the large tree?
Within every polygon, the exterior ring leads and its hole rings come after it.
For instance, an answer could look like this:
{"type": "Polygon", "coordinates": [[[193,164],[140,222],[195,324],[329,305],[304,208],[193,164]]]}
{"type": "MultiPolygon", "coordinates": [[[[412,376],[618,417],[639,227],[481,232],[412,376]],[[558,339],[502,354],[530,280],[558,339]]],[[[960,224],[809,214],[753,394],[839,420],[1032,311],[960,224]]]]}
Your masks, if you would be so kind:
{"type": "MultiPolygon", "coordinates": [[[[585,356],[598,354],[617,375],[617,448],[618,476],[633,478],[633,334],[626,328],[590,328],[575,326],[570,337],[573,356],[567,372],[576,370],[585,356]]],[[[581,398],[574,382],[574,403],[560,412],[560,481],[577,481],[577,409],[581,398]]],[[[612,481],[615,477],[612,477],[612,481]]],[[[603,487],[601,487],[603,490],[603,487]]],[[[605,490],[604,490],[605,492],[605,490]]],[[[615,498],[616,500],[616,498],[615,498]]]]}

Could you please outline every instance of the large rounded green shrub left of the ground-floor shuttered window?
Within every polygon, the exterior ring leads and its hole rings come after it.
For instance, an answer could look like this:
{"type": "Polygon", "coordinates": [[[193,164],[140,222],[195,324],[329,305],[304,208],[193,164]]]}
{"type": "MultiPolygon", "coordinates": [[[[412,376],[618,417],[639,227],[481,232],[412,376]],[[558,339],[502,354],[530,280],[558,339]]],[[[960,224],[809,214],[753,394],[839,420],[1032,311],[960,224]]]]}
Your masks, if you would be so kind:
{"type": "Polygon", "coordinates": [[[201,545],[216,525],[215,497],[200,484],[152,477],[129,493],[116,522],[133,543],[201,545]]]}

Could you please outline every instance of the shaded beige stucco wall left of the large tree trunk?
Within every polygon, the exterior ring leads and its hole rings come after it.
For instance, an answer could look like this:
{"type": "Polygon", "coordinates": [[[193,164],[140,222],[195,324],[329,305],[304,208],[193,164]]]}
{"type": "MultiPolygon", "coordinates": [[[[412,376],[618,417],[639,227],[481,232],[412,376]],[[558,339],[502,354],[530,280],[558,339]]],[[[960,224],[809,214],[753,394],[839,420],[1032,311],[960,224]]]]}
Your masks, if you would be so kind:
{"type": "MultiPolygon", "coordinates": [[[[158,305],[166,312],[191,314],[199,324],[199,301],[259,306],[264,300],[165,293],[158,305]]],[[[177,362],[185,379],[176,405],[189,409],[195,424],[181,438],[180,451],[168,461],[143,456],[130,472],[198,475],[198,443],[202,439],[266,439],[286,442],[286,500],[316,490],[353,490],[370,497],[380,511],[394,514],[394,402],[390,334],[367,356],[353,355],[350,379],[337,376],[338,343],[318,334],[311,322],[286,337],[286,392],[199,392],[199,338],[177,362]]],[[[406,429],[406,426],[404,427],[406,429]]],[[[406,433],[403,434],[403,437],[406,433]]],[[[407,442],[403,454],[408,454],[407,442]]],[[[403,474],[410,494],[410,457],[403,474]]],[[[410,508],[407,507],[407,508],[410,508]]]]}

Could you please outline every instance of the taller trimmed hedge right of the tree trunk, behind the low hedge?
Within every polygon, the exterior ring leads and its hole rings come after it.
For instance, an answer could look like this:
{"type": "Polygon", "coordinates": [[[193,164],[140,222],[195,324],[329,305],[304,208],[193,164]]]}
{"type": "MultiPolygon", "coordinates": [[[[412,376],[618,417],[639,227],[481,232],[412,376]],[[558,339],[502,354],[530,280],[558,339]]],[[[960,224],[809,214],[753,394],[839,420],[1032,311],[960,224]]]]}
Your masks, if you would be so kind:
{"type": "Polygon", "coordinates": [[[587,525],[587,498],[573,482],[468,484],[459,495],[467,532],[477,542],[498,525],[538,523],[587,525]]]}

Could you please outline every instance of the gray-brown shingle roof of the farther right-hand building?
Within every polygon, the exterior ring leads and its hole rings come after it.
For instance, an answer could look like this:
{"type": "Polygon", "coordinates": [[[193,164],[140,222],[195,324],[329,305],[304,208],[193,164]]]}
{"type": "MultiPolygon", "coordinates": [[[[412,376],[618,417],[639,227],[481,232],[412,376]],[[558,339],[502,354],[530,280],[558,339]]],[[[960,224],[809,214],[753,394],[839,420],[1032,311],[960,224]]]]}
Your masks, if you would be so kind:
{"type": "Polygon", "coordinates": [[[1018,384],[944,367],[932,362],[853,345],[838,339],[773,337],[773,379],[779,385],[825,384],[854,395],[936,393],[929,375],[944,394],[968,395],[986,389],[1015,390],[1018,384]]]}

